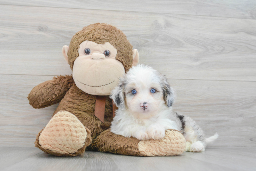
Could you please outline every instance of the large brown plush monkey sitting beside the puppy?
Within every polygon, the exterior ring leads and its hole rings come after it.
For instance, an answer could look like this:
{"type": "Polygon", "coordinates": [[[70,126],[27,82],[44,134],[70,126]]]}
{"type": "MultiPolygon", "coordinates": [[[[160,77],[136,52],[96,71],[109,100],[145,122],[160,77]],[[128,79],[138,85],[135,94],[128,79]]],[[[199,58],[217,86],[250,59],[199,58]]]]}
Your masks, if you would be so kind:
{"type": "MultiPolygon", "coordinates": [[[[139,141],[134,138],[126,138],[132,142],[129,152],[126,152],[127,145],[123,147],[116,144],[113,147],[113,136],[116,142],[123,142],[125,137],[113,135],[109,129],[106,130],[113,119],[113,104],[108,95],[117,86],[118,78],[139,62],[139,53],[136,49],[132,50],[125,34],[107,24],[88,25],[74,35],[69,47],[62,48],[62,53],[73,76],[54,77],[33,88],[28,95],[29,104],[34,108],[60,103],[47,126],[39,132],[36,147],[56,156],[77,156],[84,153],[86,148],[150,156],[148,153],[138,153],[139,141]]],[[[167,145],[171,150],[167,155],[183,153],[184,137],[177,131],[171,132],[175,132],[174,136],[178,135],[172,142],[178,144],[178,147],[167,145]]],[[[172,139],[171,136],[167,140],[172,139]]],[[[154,143],[159,148],[161,143],[154,141],[150,144],[154,143]]],[[[148,150],[152,147],[144,143],[145,148],[148,150]]]]}

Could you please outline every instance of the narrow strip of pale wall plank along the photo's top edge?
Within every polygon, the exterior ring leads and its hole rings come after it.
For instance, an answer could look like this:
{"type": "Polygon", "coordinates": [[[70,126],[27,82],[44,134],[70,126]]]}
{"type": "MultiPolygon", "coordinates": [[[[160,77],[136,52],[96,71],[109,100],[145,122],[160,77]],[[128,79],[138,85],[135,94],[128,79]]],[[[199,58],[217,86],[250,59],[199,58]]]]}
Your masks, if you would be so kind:
{"type": "Polygon", "coordinates": [[[0,4],[256,18],[255,0],[1,0],[0,4]]]}

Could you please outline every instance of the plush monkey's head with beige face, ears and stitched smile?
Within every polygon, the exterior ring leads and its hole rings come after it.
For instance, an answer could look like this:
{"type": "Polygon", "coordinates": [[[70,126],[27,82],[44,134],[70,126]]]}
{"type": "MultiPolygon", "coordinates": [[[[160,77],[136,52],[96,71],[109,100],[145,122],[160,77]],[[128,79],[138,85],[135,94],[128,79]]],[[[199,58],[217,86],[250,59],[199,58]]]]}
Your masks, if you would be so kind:
{"type": "Polygon", "coordinates": [[[110,95],[119,77],[139,62],[139,53],[125,34],[108,24],[92,24],[78,31],[62,53],[73,70],[76,86],[93,95],[110,95]]]}

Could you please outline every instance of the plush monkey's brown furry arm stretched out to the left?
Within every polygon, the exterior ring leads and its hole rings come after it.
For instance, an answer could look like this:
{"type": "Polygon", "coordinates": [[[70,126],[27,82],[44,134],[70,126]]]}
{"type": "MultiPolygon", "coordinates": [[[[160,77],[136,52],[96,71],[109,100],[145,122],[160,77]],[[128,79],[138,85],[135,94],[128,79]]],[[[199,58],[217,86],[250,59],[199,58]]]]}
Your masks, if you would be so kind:
{"type": "Polygon", "coordinates": [[[73,85],[72,76],[57,76],[34,87],[28,94],[29,104],[44,108],[59,103],[73,85]]]}

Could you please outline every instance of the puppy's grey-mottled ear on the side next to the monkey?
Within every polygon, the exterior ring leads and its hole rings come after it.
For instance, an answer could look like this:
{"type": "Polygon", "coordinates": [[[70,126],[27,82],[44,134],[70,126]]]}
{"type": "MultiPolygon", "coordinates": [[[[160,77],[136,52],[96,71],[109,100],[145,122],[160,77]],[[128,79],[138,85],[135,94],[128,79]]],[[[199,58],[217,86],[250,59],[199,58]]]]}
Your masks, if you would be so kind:
{"type": "Polygon", "coordinates": [[[118,86],[111,91],[110,98],[119,109],[125,109],[124,80],[120,80],[118,86]]]}

